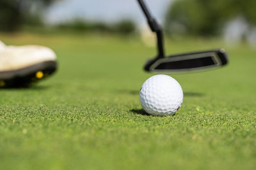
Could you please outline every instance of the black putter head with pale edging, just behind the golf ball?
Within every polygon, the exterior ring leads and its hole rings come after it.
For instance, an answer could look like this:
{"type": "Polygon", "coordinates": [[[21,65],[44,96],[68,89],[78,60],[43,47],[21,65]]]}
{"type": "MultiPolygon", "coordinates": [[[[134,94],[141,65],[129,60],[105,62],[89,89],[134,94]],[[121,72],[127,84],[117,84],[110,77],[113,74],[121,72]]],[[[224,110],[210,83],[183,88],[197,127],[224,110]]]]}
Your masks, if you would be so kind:
{"type": "Polygon", "coordinates": [[[170,57],[158,56],[155,59],[148,60],[144,69],[149,72],[186,73],[213,69],[227,64],[227,53],[221,48],[205,52],[183,53],[170,57]]]}

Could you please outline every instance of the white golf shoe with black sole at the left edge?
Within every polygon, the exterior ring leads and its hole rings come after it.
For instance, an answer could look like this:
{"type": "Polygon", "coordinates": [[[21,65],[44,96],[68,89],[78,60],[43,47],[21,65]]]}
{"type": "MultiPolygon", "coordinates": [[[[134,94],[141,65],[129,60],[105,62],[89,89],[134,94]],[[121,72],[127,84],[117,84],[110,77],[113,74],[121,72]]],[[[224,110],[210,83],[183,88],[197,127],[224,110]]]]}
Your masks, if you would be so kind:
{"type": "Polygon", "coordinates": [[[26,87],[57,69],[56,54],[47,47],[6,46],[0,41],[0,88],[26,87]]]}

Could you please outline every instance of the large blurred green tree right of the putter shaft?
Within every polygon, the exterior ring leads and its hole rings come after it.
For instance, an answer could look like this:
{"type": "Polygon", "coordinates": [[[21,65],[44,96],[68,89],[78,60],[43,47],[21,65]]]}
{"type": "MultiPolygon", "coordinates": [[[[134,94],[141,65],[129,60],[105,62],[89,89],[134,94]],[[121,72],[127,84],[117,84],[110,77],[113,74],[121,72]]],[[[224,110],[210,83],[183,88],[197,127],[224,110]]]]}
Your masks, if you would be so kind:
{"type": "Polygon", "coordinates": [[[165,28],[170,34],[215,36],[237,16],[255,26],[256,1],[176,0],[166,13],[165,28]]]}

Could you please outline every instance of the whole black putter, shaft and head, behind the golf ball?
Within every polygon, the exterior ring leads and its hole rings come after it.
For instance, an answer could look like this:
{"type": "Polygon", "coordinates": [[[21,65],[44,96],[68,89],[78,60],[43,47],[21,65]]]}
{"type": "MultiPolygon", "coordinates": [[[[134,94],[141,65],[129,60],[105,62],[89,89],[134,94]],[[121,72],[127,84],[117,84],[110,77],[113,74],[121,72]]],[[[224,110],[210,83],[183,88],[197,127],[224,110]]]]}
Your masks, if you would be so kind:
{"type": "Polygon", "coordinates": [[[228,64],[227,53],[223,48],[204,52],[182,53],[166,57],[164,54],[163,31],[157,20],[152,17],[143,0],[138,3],[145,14],[152,32],[156,32],[158,55],[146,62],[144,69],[148,72],[179,73],[190,71],[203,71],[228,64]]]}

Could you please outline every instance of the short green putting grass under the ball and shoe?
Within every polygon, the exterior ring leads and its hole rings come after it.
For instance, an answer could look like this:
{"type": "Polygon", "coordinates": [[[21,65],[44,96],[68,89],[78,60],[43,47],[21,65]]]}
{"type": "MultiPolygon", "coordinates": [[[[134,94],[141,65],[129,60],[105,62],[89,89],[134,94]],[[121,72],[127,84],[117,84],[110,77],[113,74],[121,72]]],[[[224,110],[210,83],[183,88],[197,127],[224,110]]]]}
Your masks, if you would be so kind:
{"type": "MultiPolygon", "coordinates": [[[[141,114],[141,67],[155,48],[134,38],[0,34],[47,45],[58,73],[31,89],[0,90],[1,169],[255,169],[256,51],[228,48],[230,65],[173,74],[184,90],[173,117],[141,114]]],[[[225,46],[168,41],[168,53],[225,46]]]]}

